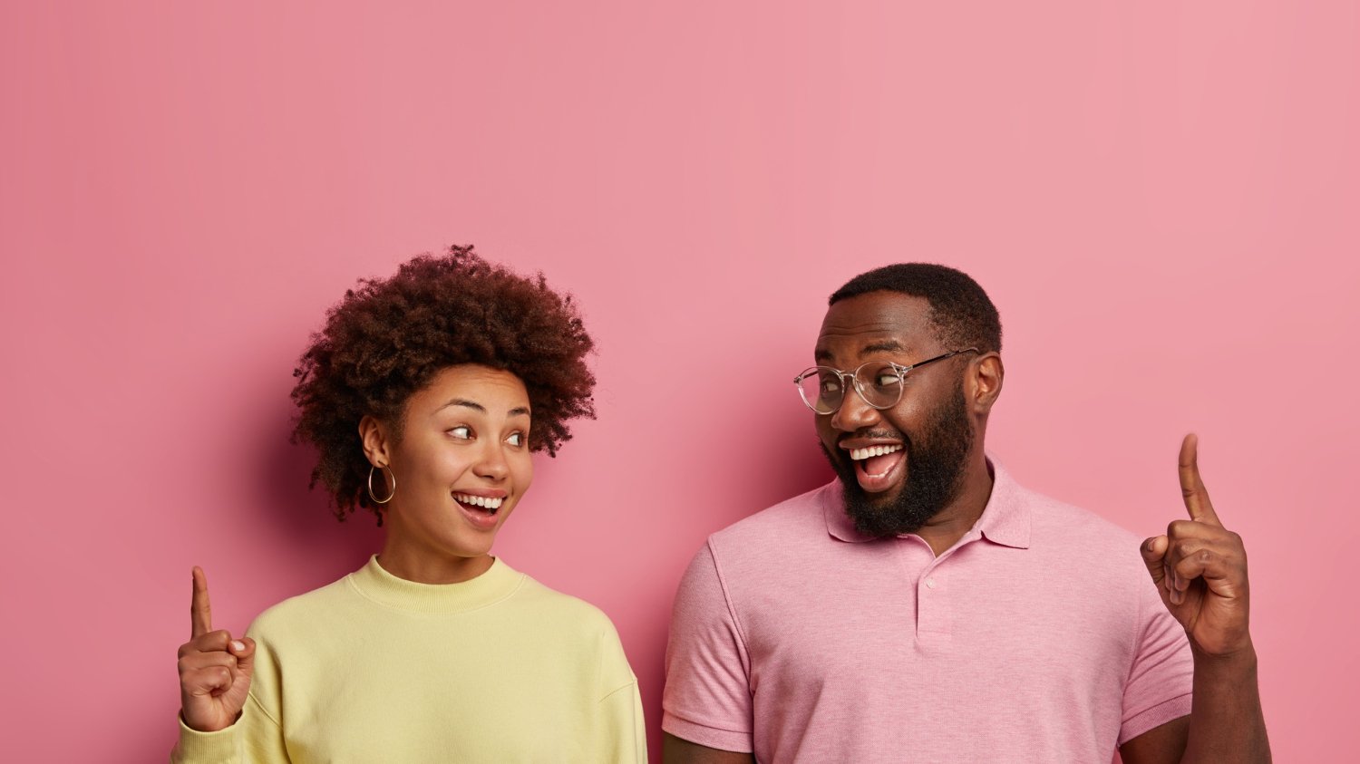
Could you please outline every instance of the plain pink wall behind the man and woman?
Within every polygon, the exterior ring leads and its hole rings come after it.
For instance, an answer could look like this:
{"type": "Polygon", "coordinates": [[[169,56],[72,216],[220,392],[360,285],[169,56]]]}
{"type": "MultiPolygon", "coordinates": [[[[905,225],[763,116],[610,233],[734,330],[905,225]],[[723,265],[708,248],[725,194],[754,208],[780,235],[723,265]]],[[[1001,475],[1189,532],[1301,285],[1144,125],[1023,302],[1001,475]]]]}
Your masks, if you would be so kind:
{"type": "Polygon", "coordinates": [[[600,419],[496,551],[613,617],[653,745],[684,564],[828,474],[789,383],[826,295],[923,258],[1001,307],[1023,483],[1152,534],[1201,434],[1277,759],[1341,756],[1353,3],[464,5],[0,10],[7,760],[163,757],[192,564],[239,629],[363,563],[290,372],[355,277],[450,242],[598,340],[600,419]]]}

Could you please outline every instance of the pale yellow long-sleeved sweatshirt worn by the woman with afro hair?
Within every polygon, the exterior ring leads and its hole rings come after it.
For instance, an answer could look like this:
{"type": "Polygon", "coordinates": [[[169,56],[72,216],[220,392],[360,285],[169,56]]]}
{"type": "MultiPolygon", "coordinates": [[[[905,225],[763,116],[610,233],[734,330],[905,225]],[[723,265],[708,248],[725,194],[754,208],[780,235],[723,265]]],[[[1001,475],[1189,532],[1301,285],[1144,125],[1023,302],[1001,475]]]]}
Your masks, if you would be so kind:
{"type": "Polygon", "coordinates": [[[499,559],[450,585],[377,557],[265,610],[235,725],[180,723],[175,764],[642,763],[638,680],[608,616],[499,559]]]}

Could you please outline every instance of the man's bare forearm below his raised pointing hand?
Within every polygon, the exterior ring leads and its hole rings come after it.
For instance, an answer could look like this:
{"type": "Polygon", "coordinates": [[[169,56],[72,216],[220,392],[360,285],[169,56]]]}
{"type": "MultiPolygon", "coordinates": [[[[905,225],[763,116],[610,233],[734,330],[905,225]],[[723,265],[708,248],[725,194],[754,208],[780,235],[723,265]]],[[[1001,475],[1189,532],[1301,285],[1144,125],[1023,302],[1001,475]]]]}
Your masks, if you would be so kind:
{"type": "Polygon", "coordinates": [[[1190,738],[1182,761],[1270,761],[1254,646],[1229,657],[1195,651],[1190,738]]]}

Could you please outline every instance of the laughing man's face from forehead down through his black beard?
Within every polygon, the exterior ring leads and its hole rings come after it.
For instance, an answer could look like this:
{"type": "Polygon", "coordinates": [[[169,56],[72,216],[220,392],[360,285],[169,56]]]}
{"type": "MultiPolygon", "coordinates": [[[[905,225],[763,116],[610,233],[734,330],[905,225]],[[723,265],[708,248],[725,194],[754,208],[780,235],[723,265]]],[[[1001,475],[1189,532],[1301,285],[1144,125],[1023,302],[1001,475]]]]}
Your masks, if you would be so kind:
{"type": "MultiPolygon", "coordinates": [[[[880,291],[831,306],[816,363],[846,371],[868,360],[910,366],[955,349],[940,345],[925,298],[880,291]]],[[[846,390],[836,412],[816,416],[821,449],[845,484],[846,513],[861,533],[913,533],[957,495],[974,439],[963,392],[967,358],[907,374],[892,408],[874,409],[846,390]]]]}

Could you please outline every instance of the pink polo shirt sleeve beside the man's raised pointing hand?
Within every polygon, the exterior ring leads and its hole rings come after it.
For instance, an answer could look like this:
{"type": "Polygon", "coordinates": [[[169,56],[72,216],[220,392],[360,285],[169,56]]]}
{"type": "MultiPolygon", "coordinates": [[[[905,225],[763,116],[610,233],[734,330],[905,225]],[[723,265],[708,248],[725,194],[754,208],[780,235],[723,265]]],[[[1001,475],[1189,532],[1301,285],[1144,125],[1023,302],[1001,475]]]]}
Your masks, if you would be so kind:
{"type": "Polygon", "coordinates": [[[1138,636],[1123,688],[1119,745],[1190,714],[1194,657],[1185,628],[1161,604],[1146,574],[1138,589],[1138,636]]]}

